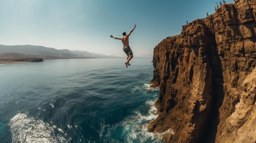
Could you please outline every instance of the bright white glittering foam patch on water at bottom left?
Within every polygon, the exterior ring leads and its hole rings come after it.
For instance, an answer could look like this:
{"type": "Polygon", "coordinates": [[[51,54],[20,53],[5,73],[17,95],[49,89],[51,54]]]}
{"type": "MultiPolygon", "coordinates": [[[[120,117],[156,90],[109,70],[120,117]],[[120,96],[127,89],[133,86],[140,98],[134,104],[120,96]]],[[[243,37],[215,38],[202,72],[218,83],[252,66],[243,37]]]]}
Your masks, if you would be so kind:
{"type": "MultiPolygon", "coordinates": [[[[50,126],[42,120],[27,117],[27,114],[16,114],[9,122],[13,143],[67,143],[64,135],[54,135],[56,126],[50,126]]],[[[62,131],[63,132],[63,131],[62,131]]]]}

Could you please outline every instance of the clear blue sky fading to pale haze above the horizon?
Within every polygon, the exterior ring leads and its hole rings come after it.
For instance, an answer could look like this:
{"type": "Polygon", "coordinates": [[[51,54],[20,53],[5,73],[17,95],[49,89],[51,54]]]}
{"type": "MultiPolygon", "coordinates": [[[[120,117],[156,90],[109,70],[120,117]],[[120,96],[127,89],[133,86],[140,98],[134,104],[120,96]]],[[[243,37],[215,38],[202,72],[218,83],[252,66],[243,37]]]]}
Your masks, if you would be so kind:
{"type": "MultiPolygon", "coordinates": [[[[41,45],[124,56],[120,40],[130,36],[134,55],[153,54],[186,20],[214,13],[216,0],[0,0],[0,44],[41,45]]],[[[233,0],[226,0],[233,3],[233,0]]],[[[218,1],[219,3],[219,1],[218,1]]]]}

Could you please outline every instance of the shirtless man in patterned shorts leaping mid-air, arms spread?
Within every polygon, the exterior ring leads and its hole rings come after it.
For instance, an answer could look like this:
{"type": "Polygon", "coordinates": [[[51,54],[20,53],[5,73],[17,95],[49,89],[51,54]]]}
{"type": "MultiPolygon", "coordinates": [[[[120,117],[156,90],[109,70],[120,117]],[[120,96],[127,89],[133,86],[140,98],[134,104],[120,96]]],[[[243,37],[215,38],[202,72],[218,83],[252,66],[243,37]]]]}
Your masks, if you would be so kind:
{"type": "Polygon", "coordinates": [[[133,57],[133,54],[132,54],[132,50],[130,49],[130,46],[129,46],[129,36],[130,34],[132,33],[132,31],[136,28],[136,24],[134,25],[134,27],[132,28],[132,30],[128,33],[128,35],[126,35],[126,32],[123,32],[123,37],[114,37],[112,35],[110,35],[110,37],[112,38],[115,38],[115,39],[119,39],[122,41],[124,47],[123,47],[123,50],[124,52],[126,53],[127,55],[127,61],[125,62],[125,65],[126,65],[126,68],[128,68],[128,66],[130,66],[130,63],[129,61],[132,59],[133,57]],[[130,55],[130,56],[129,56],[130,55]]]}

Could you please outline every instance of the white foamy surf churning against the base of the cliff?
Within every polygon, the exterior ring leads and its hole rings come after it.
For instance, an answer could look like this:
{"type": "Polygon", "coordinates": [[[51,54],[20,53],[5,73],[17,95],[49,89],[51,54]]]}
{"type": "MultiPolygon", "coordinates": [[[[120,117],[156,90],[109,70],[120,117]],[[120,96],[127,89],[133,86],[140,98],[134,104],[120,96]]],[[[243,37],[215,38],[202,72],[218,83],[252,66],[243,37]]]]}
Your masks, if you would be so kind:
{"type": "MultiPolygon", "coordinates": [[[[151,84],[143,84],[141,86],[135,86],[132,92],[148,92],[158,91],[159,88],[150,87],[151,84]]],[[[135,111],[135,114],[126,118],[123,122],[117,124],[114,128],[121,127],[121,136],[128,143],[159,143],[162,142],[161,134],[155,134],[153,132],[148,132],[148,124],[157,118],[157,108],[155,108],[155,101],[157,100],[157,95],[151,97],[146,101],[146,107],[149,108],[146,114],[140,111],[135,111]]]]}

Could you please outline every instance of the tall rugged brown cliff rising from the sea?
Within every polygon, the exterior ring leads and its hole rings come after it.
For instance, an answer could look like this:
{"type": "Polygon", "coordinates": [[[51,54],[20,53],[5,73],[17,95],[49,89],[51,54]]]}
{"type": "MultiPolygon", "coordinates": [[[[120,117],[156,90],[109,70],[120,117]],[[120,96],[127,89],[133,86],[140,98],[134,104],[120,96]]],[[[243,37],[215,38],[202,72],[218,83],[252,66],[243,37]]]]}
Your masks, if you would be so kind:
{"type": "Polygon", "coordinates": [[[154,48],[159,116],[148,130],[173,130],[163,135],[170,143],[255,143],[255,65],[255,0],[223,4],[183,26],[154,48]]]}

